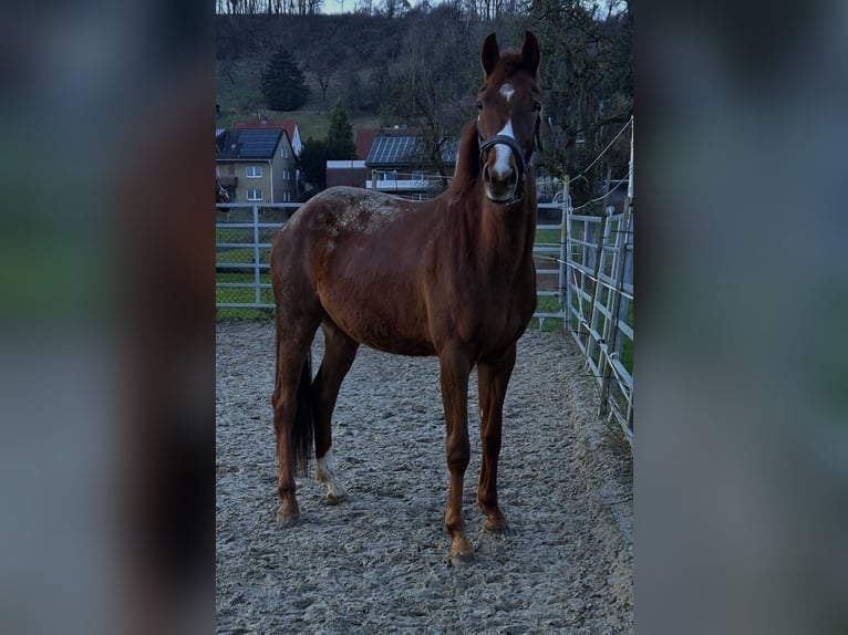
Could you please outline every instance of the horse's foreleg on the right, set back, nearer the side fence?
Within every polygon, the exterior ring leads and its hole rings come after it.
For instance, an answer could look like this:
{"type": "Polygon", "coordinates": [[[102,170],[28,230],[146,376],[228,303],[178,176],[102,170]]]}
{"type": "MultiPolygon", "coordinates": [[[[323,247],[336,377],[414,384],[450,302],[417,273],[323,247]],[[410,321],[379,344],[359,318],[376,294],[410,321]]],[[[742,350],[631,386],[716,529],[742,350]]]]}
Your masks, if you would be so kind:
{"type": "Polygon", "coordinates": [[[499,356],[482,361],[477,366],[477,386],[480,400],[480,445],[483,446],[477,504],[486,514],[485,528],[488,531],[509,530],[497,501],[497,464],[500,456],[504,399],[514,367],[515,344],[499,356]]]}

